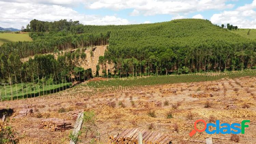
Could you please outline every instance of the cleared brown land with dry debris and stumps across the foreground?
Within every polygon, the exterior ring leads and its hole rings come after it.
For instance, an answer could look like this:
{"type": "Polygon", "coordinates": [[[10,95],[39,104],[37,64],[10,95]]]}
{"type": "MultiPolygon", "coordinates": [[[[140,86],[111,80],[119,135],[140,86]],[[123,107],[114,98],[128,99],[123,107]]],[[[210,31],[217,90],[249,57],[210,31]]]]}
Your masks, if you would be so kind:
{"type": "MultiPolygon", "coordinates": [[[[89,143],[91,139],[99,141],[99,138],[102,143],[108,143],[110,135],[127,128],[163,132],[171,136],[173,143],[196,143],[186,140],[205,141],[208,137],[216,138],[214,143],[234,143],[229,140],[229,134],[208,135],[202,132],[190,138],[188,133],[193,130],[197,119],[207,123],[221,120],[221,123],[230,124],[249,119],[251,123],[245,128],[245,134],[238,134],[239,143],[256,141],[255,73],[169,77],[119,80],[123,83],[115,83],[115,79],[91,80],[88,84],[45,97],[1,102],[0,107],[14,109],[15,113],[8,118],[8,123],[17,132],[19,143],[69,143],[69,132],[72,130],[55,132],[43,129],[41,120],[65,118],[74,125],[75,120],[63,112],[81,109],[95,112],[97,126],[88,131],[86,137],[86,128],[82,129],[83,133],[79,136],[81,143],[89,143]],[[195,80],[196,77],[199,80],[195,80]],[[141,83],[137,84],[139,80],[141,83]],[[147,83],[143,85],[142,82],[147,83]],[[155,82],[159,84],[155,85],[155,82]],[[104,105],[111,102],[115,105],[104,105]],[[12,119],[25,105],[31,105],[34,114],[12,119]]],[[[84,123],[83,127],[88,128],[89,125],[84,123]]],[[[201,128],[200,124],[198,128],[201,128]]]]}

